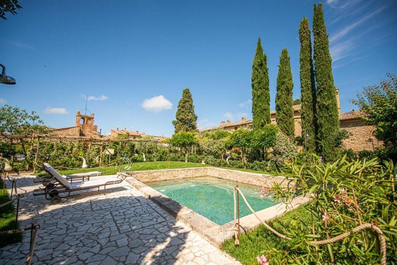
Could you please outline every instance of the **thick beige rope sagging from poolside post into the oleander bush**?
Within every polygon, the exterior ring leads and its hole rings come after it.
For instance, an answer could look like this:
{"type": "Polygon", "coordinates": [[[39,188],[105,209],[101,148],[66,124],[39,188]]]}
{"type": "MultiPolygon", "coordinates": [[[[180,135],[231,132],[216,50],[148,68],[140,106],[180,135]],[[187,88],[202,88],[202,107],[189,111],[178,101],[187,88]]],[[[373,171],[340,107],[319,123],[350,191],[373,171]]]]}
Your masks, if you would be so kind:
{"type": "MultiPolygon", "coordinates": [[[[286,240],[292,240],[292,238],[289,238],[279,232],[277,232],[274,228],[272,228],[271,226],[269,226],[268,224],[266,224],[266,222],[262,221],[259,216],[256,214],[256,212],[252,209],[251,205],[249,205],[247,199],[245,199],[244,194],[241,192],[241,190],[236,186],[233,190],[233,201],[234,201],[234,221],[236,222],[236,191],[238,191],[238,193],[241,195],[241,197],[243,198],[245,204],[247,205],[247,207],[251,210],[252,214],[254,214],[254,216],[266,227],[268,228],[270,231],[272,231],[274,234],[276,234],[277,236],[279,236],[280,238],[284,238],[286,240]]],[[[236,226],[237,227],[237,226],[236,226]]],[[[239,229],[239,228],[238,228],[239,229]]],[[[359,226],[356,226],[355,228],[353,228],[352,231],[349,232],[345,232],[343,234],[340,234],[338,236],[335,236],[333,238],[329,238],[326,240],[320,240],[320,241],[310,241],[310,244],[313,245],[325,245],[325,244],[331,244],[331,243],[335,243],[339,240],[342,240],[343,238],[346,238],[348,236],[350,236],[352,233],[357,233],[361,230],[364,229],[372,229],[376,232],[376,234],[378,234],[378,239],[380,241],[380,253],[382,254],[382,258],[381,258],[381,263],[382,264],[386,264],[386,240],[384,237],[384,234],[382,232],[382,230],[380,230],[380,228],[378,226],[376,226],[375,224],[361,224],[359,226]]],[[[235,240],[236,243],[236,240],[235,240]]],[[[238,242],[239,244],[239,242],[238,242]]]]}

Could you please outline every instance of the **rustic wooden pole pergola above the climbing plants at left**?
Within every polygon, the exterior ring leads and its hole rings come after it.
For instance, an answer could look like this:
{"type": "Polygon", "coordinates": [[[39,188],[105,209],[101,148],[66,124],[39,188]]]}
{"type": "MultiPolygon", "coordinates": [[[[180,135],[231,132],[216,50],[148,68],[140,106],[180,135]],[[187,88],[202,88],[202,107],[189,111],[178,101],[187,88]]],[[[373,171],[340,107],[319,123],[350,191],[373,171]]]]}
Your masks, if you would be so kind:
{"type": "Polygon", "coordinates": [[[37,140],[36,142],[36,151],[35,151],[35,161],[33,164],[33,173],[37,170],[37,161],[39,159],[39,150],[40,150],[40,142],[41,143],[52,143],[52,142],[89,142],[88,150],[91,151],[91,145],[101,145],[100,148],[100,163],[102,162],[102,144],[104,143],[112,143],[118,142],[120,145],[122,142],[145,142],[146,143],[146,152],[147,152],[147,144],[149,142],[160,144],[159,140],[139,140],[134,138],[129,139],[101,139],[101,138],[92,138],[92,137],[82,137],[82,136],[52,136],[52,135],[16,135],[16,134],[0,134],[0,139],[9,139],[11,144],[21,144],[21,140],[37,140]],[[14,140],[19,140],[19,142],[14,142],[14,140]]]}

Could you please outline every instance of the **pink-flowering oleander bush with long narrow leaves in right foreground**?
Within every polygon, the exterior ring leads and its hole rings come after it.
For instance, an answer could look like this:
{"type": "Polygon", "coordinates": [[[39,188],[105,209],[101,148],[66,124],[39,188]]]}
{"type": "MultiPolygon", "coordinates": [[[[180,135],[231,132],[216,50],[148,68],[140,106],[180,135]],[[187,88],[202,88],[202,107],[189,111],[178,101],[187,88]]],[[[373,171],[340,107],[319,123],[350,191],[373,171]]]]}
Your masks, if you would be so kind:
{"type": "MultiPolygon", "coordinates": [[[[314,156],[312,161],[318,161],[314,156]]],[[[373,230],[353,233],[332,244],[315,246],[312,240],[333,238],[351,232],[360,224],[372,224],[380,228],[387,246],[387,262],[397,263],[397,201],[395,194],[395,173],[397,167],[391,160],[378,162],[356,160],[348,162],[345,156],[327,164],[292,163],[291,181],[287,189],[275,184],[277,199],[291,207],[297,196],[310,196],[304,207],[310,222],[293,218],[291,227],[283,232],[289,251],[273,249],[264,253],[272,263],[380,263],[380,243],[373,230]],[[307,170],[312,168],[312,170],[307,170]],[[306,172],[306,173],[303,173],[306,172]],[[292,184],[292,183],[291,183],[292,184]]]]}

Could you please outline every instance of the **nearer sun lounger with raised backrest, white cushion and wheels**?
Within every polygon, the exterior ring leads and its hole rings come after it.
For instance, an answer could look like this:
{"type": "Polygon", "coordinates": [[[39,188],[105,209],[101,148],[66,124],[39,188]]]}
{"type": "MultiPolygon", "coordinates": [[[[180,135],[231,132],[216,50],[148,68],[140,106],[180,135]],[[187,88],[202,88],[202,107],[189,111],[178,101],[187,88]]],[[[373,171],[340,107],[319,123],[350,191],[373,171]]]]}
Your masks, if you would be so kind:
{"type": "Polygon", "coordinates": [[[51,203],[59,203],[61,198],[70,197],[70,193],[72,191],[81,191],[104,187],[104,194],[106,194],[106,185],[118,184],[124,181],[127,175],[119,174],[119,175],[108,175],[101,177],[100,179],[90,180],[90,181],[80,181],[69,183],[67,181],[66,176],[62,176],[58,173],[54,168],[52,168],[49,164],[44,163],[44,170],[54,177],[56,180],[54,183],[48,184],[44,189],[35,189],[33,191],[33,195],[45,195],[47,200],[51,200],[51,203]],[[67,195],[61,196],[61,193],[67,193],[67,195]]]}

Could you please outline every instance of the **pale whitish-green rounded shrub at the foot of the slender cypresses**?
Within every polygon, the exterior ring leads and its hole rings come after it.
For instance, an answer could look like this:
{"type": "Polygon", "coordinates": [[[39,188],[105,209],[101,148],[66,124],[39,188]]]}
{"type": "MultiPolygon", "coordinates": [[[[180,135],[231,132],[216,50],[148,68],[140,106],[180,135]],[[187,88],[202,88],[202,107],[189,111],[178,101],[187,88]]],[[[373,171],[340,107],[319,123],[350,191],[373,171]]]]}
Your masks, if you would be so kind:
{"type": "Polygon", "coordinates": [[[297,148],[288,136],[278,132],[276,134],[276,144],[273,147],[272,154],[272,161],[274,161],[276,166],[280,168],[285,164],[286,160],[295,158],[297,155],[297,148]]]}

